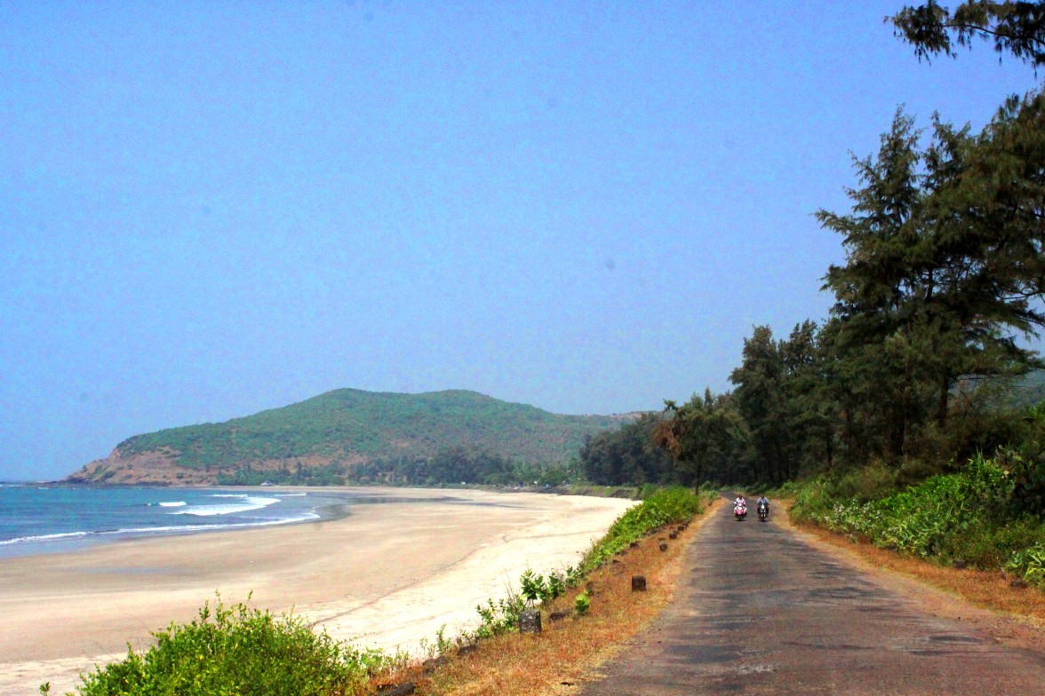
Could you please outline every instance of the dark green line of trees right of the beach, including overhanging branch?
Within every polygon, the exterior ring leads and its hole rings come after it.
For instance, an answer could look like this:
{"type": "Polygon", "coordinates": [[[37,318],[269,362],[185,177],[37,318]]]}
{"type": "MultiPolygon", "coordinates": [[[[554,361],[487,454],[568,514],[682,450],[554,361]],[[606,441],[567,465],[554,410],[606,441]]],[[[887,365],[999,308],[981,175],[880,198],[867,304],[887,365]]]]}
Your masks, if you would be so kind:
{"type": "MultiPolygon", "coordinates": [[[[920,58],[977,39],[1045,65],[1045,2],[935,2],[888,18],[920,58]]],[[[1045,94],[1007,99],[974,133],[897,111],[855,159],[851,209],[820,210],[845,263],[829,267],[822,320],[781,337],[754,327],[726,393],[705,391],[589,438],[596,482],[782,483],[876,464],[911,480],[999,447],[1045,471],[1045,421],[1007,407],[1041,368],[1045,326],[1045,94]]]]}

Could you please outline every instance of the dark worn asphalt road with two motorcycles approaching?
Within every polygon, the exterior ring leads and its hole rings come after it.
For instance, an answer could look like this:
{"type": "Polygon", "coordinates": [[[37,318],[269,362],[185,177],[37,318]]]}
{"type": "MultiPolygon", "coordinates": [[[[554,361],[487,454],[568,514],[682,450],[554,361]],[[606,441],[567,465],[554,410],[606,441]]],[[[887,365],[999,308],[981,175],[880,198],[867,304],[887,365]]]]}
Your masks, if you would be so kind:
{"type": "Polygon", "coordinates": [[[1041,654],[920,611],[779,523],[720,508],[676,601],[583,696],[1045,694],[1041,654]]]}

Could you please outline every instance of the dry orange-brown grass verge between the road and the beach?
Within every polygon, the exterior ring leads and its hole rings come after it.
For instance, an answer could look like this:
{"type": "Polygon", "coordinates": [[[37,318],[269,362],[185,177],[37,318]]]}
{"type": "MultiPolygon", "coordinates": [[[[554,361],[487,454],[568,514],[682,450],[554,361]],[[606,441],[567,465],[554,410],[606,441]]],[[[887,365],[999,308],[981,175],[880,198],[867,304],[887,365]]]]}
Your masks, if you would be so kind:
{"type": "Polygon", "coordinates": [[[419,667],[394,675],[396,682],[414,681],[423,696],[561,696],[574,694],[591,679],[593,671],[612,657],[635,633],[667,606],[682,568],[682,552],[697,529],[716,509],[704,513],[678,533],[674,527],[646,536],[614,561],[593,573],[587,615],[573,613],[571,591],[541,614],[540,634],[508,633],[479,643],[474,652],[450,656],[450,661],[425,674],[419,667]],[[668,550],[661,552],[660,544],[668,550]],[[645,575],[647,592],[631,592],[631,576],[645,575]],[[552,622],[551,611],[567,611],[567,618],[552,622]]]}

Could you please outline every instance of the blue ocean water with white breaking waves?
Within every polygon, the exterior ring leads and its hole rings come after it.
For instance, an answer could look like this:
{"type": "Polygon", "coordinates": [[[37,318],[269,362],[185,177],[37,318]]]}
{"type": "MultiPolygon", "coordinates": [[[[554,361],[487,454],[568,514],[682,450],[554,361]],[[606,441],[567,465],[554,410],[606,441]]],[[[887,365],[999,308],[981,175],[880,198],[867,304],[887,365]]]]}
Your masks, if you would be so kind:
{"type": "Polygon", "coordinates": [[[163,534],[339,517],[349,491],[257,488],[88,488],[0,483],[0,558],[163,534]]]}

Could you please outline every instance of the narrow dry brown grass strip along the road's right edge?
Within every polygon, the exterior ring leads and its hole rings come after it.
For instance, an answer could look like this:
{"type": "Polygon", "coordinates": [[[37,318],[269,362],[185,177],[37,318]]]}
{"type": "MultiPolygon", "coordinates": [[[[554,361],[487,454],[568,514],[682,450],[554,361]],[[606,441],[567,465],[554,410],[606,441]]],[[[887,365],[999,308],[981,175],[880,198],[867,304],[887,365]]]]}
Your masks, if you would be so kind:
{"type": "MultiPolygon", "coordinates": [[[[790,514],[791,501],[786,501],[784,504],[790,514]]],[[[919,558],[901,555],[896,551],[880,549],[866,542],[854,541],[845,534],[832,532],[815,525],[802,524],[796,526],[822,542],[856,553],[877,568],[901,573],[909,578],[957,595],[978,606],[1023,617],[1031,620],[1035,624],[1045,625],[1045,593],[1034,587],[1012,587],[1008,584],[1011,578],[1000,571],[957,570],[947,566],[937,566],[919,558]]]]}

